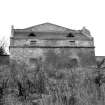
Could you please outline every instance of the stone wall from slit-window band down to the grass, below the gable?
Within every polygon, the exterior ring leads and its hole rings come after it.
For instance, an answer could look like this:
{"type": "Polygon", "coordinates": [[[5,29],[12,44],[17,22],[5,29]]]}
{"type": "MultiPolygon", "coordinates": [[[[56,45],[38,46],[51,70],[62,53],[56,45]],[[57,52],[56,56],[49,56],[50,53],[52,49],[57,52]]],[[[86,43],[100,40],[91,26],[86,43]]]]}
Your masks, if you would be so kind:
{"type": "Polygon", "coordinates": [[[41,59],[56,66],[96,66],[93,40],[11,38],[10,58],[27,64],[41,59]]]}

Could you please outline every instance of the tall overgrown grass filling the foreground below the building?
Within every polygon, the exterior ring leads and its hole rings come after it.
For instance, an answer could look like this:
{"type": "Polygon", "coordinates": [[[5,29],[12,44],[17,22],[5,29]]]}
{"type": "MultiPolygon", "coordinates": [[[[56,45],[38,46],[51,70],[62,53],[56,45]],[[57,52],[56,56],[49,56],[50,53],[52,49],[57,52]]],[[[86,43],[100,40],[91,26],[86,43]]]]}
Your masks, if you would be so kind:
{"type": "Polygon", "coordinates": [[[51,72],[41,63],[30,69],[14,61],[0,67],[0,105],[105,105],[103,72],[51,72]]]}

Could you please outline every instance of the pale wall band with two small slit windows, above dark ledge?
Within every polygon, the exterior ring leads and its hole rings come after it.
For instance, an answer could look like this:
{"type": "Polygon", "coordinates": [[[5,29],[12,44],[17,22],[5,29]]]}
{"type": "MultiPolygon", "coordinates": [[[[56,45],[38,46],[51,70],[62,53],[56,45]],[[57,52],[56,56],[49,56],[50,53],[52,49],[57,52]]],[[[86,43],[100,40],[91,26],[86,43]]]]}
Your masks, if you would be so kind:
{"type": "Polygon", "coordinates": [[[72,46],[72,47],[94,47],[90,40],[40,40],[40,39],[11,39],[11,46],[30,46],[34,41],[34,46],[72,46]]]}

